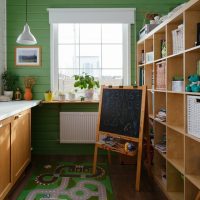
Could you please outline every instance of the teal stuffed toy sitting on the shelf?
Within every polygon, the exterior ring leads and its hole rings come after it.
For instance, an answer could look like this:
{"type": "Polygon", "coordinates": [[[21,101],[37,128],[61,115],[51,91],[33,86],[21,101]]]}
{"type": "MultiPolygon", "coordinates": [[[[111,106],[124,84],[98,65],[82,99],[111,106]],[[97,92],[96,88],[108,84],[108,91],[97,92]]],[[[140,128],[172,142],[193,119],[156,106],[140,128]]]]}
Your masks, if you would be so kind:
{"type": "Polygon", "coordinates": [[[186,92],[200,92],[200,76],[193,74],[188,77],[189,84],[186,85],[186,92]]]}

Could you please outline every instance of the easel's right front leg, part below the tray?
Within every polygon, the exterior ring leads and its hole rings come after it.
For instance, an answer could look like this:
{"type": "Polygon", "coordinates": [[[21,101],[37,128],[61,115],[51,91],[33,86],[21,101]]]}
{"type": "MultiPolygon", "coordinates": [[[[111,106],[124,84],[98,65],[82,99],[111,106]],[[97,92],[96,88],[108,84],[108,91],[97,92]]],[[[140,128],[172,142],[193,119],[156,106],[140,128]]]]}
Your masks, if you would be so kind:
{"type": "Polygon", "coordinates": [[[142,144],[139,144],[138,157],[137,157],[136,183],[135,183],[135,189],[137,192],[140,191],[141,161],[142,161],[142,144]]]}

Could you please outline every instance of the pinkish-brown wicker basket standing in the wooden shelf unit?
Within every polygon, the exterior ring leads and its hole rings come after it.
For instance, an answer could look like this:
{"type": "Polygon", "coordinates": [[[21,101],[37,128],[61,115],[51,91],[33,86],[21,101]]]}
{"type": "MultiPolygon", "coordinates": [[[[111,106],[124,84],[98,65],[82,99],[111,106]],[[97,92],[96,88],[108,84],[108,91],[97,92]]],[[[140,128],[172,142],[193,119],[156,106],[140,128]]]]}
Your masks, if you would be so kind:
{"type": "Polygon", "coordinates": [[[156,63],[155,70],[155,89],[165,90],[166,89],[166,61],[156,63]]]}

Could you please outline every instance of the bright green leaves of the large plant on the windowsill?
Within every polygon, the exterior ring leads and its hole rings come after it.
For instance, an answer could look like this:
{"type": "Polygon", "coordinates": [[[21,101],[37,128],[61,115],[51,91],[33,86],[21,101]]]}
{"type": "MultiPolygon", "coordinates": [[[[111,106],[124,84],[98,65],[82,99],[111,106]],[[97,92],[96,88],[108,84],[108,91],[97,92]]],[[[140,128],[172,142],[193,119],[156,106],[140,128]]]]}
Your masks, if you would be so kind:
{"type": "Polygon", "coordinates": [[[79,87],[81,89],[94,89],[99,88],[99,81],[95,81],[94,77],[83,72],[83,75],[74,75],[75,83],[74,87],[79,87]]]}

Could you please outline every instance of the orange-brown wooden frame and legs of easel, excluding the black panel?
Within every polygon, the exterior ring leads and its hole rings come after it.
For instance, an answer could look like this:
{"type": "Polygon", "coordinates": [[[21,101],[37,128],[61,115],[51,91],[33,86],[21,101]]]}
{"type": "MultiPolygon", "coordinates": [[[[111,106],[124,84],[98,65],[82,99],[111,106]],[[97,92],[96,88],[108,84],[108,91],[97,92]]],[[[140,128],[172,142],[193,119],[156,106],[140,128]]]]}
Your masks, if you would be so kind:
{"type": "Polygon", "coordinates": [[[143,136],[144,136],[144,119],[145,119],[145,106],[146,106],[146,86],[142,87],[112,87],[112,89],[122,89],[122,90],[141,90],[142,97],[141,97],[141,111],[140,111],[140,122],[139,122],[139,134],[138,137],[130,137],[121,134],[111,133],[111,132],[104,132],[100,130],[100,120],[101,120],[101,108],[102,108],[102,98],[103,98],[103,90],[109,89],[107,87],[101,88],[101,99],[99,103],[99,115],[98,115],[98,123],[97,123],[97,131],[96,131],[96,143],[95,143],[95,151],[94,151],[94,161],[93,161],[93,174],[96,173],[96,163],[97,163],[97,154],[98,148],[105,149],[108,151],[108,158],[110,161],[110,151],[114,151],[120,154],[128,155],[128,156],[136,156],[137,155],[137,169],[136,169],[136,191],[140,190],[140,176],[141,176],[141,161],[142,161],[142,149],[143,149],[143,136]],[[128,142],[137,143],[137,150],[135,151],[125,151],[124,148],[115,148],[110,147],[106,144],[102,144],[100,142],[100,136],[106,135],[111,136],[113,138],[120,138],[126,140],[128,142]]]}

